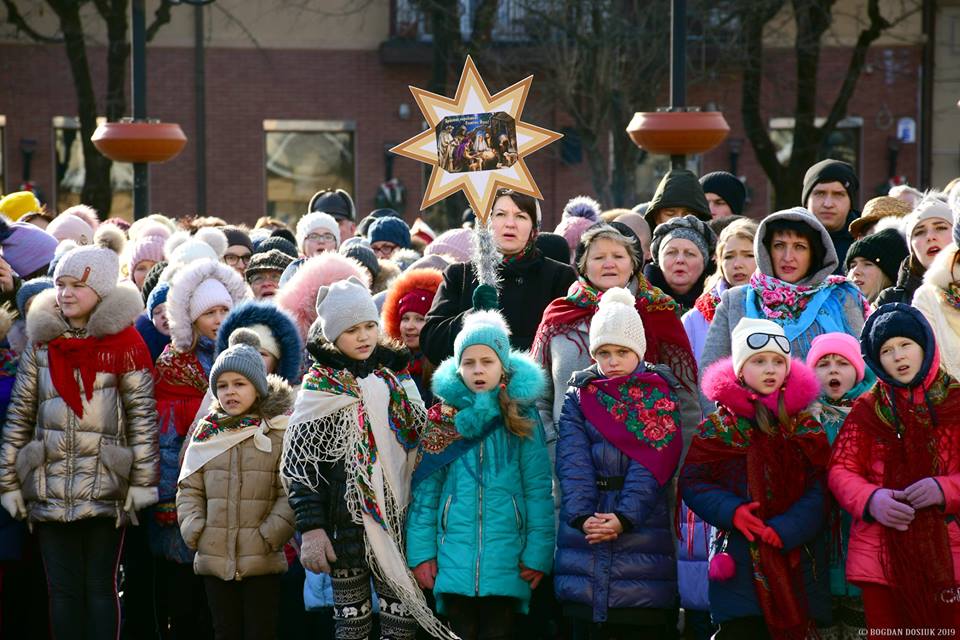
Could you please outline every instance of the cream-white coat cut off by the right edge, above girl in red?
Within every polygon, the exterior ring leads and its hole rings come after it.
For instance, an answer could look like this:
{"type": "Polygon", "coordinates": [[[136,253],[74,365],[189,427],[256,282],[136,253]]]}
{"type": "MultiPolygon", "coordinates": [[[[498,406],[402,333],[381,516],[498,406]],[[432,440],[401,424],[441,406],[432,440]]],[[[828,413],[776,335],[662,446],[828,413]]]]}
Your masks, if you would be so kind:
{"type": "Polygon", "coordinates": [[[913,306],[933,328],[940,366],[960,379],[960,309],[944,298],[950,285],[960,281],[960,268],[953,266],[957,251],[957,246],[950,244],[937,254],[923,275],[923,284],[913,295],[913,306]]]}

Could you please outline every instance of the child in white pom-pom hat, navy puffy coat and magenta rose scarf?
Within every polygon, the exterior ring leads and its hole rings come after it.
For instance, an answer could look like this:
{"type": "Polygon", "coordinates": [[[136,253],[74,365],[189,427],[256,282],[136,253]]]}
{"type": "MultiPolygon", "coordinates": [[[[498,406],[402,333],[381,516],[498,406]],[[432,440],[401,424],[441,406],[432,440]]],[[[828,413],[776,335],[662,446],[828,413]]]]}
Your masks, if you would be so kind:
{"type": "Polygon", "coordinates": [[[615,637],[667,637],[675,611],[668,494],[683,437],[676,380],[646,349],[633,296],[608,289],[590,323],[596,364],[573,375],[559,420],[554,589],[591,635],[603,622],[615,637]]]}

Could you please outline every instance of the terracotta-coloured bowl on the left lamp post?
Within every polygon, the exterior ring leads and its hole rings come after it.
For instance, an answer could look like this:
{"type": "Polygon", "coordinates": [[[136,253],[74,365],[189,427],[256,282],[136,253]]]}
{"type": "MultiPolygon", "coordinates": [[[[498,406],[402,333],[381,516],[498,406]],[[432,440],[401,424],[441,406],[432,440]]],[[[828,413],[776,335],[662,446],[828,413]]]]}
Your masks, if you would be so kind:
{"type": "Polygon", "coordinates": [[[91,138],[94,146],[116,162],[166,162],[187,144],[174,122],[105,122],[91,138]]]}

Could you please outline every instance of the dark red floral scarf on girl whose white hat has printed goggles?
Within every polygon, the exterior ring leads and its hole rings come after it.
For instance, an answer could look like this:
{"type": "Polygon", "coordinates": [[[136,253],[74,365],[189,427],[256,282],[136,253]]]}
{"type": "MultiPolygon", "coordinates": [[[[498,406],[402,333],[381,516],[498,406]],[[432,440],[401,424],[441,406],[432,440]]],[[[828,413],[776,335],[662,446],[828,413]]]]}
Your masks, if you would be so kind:
{"type": "MultiPolygon", "coordinates": [[[[768,520],[787,511],[813,482],[823,481],[829,457],[826,433],[809,414],[797,417],[792,432],[767,435],[721,405],[693,439],[682,483],[739,493],[746,466],[747,494],[760,503],[760,519],[768,520]]],[[[759,541],[748,544],[754,588],[771,636],[804,640],[814,622],[805,598],[802,549],[784,553],[759,541]]]]}

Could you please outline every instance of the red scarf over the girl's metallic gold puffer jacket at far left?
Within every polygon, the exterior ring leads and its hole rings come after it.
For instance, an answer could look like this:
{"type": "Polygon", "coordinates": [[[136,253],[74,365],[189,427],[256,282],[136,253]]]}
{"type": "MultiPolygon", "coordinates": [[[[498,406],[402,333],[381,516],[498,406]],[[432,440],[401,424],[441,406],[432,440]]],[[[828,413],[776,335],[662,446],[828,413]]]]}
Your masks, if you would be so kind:
{"type": "Polygon", "coordinates": [[[47,354],[53,387],[79,418],[83,417],[83,400],[74,371],[80,372],[84,395],[89,402],[93,399],[98,373],[122,376],[131,371],[153,369],[150,350],[133,326],[102,338],[61,336],[47,343],[47,354]]]}

